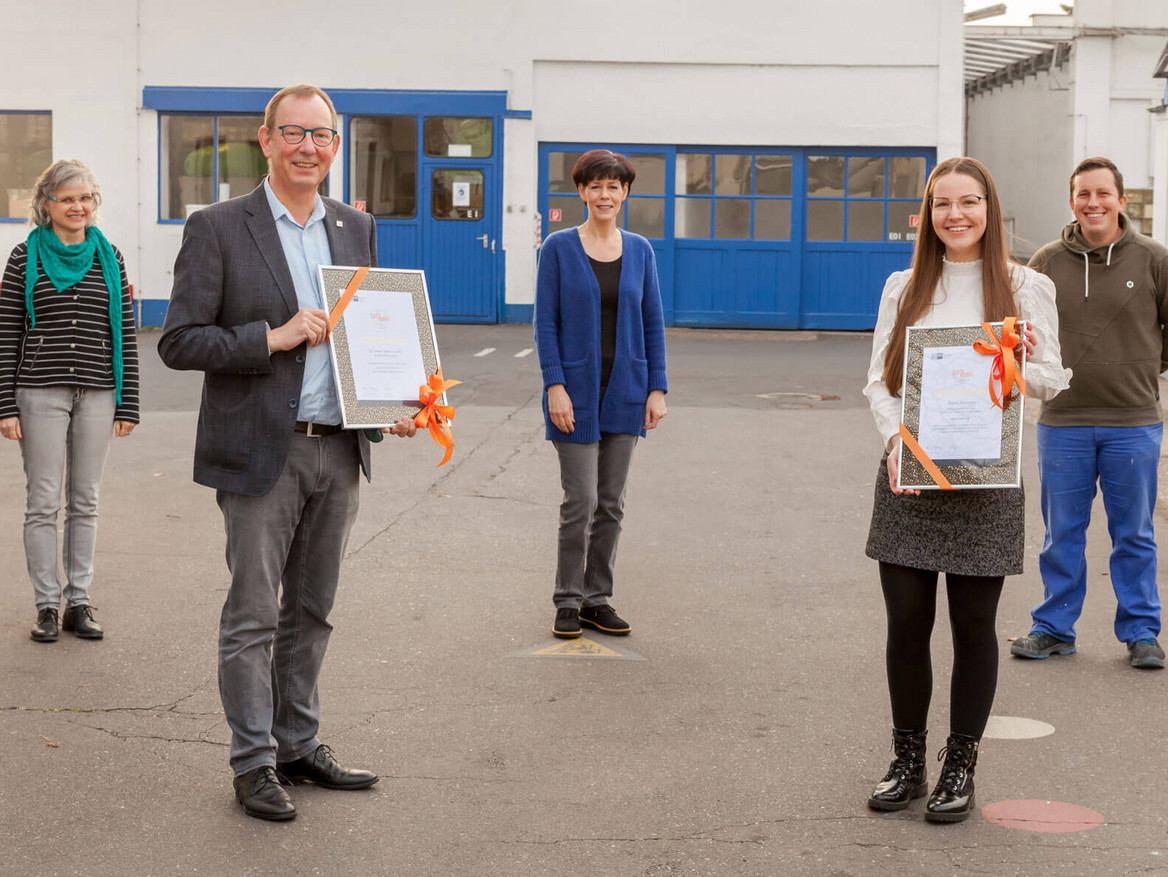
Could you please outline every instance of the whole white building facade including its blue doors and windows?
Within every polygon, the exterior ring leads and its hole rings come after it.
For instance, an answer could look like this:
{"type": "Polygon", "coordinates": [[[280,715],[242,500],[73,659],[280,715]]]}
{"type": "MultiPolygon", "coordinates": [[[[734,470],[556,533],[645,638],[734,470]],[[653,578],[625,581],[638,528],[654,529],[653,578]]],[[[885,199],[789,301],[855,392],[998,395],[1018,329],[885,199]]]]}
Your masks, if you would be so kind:
{"type": "Polygon", "coordinates": [[[929,169],[962,151],[960,0],[8,6],[0,250],[32,178],[85,161],[144,325],[189,211],[262,179],[263,107],[294,82],[341,114],[327,194],[377,217],[383,266],[425,269],[443,321],[530,320],[538,241],[583,220],[571,165],[604,147],[638,169],[623,222],[670,323],[870,328],[929,169]]]}

